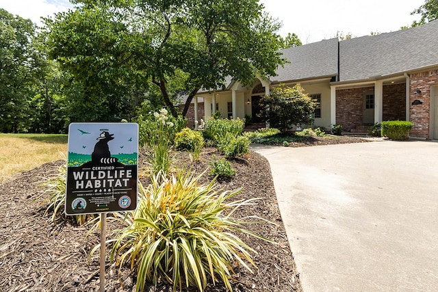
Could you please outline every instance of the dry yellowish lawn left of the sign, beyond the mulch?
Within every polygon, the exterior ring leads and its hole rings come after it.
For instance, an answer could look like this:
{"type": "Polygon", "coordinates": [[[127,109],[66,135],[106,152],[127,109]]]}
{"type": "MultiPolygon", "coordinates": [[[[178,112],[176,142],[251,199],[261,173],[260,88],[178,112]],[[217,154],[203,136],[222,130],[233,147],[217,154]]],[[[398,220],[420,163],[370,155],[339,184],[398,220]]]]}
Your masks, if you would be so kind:
{"type": "Polygon", "coordinates": [[[0,183],[18,172],[63,159],[67,139],[68,135],[0,133],[0,183]]]}

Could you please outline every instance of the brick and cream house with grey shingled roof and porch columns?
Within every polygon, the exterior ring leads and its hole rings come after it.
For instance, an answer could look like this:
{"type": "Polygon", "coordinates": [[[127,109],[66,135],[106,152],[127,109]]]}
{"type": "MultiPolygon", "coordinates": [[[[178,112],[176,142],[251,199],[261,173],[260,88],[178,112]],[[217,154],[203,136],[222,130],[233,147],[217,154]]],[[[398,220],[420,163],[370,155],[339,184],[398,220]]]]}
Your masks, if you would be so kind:
{"type": "MultiPolygon", "coordinates": [[[[258,101],[280,84],[300,83],[318,99],[316,126],[363,133],[383,120],[410,120],[411,137],[438,140],[438,21],[420,27],[338,41],[322,40],[281,51],[288,63],[277,76],[245,87],[230,81],[224,90],[199,92],[203,114],[252,116],[263,122],[258,101]]],[[[196,99],[196,98],[195,98],[196,99]]]]}

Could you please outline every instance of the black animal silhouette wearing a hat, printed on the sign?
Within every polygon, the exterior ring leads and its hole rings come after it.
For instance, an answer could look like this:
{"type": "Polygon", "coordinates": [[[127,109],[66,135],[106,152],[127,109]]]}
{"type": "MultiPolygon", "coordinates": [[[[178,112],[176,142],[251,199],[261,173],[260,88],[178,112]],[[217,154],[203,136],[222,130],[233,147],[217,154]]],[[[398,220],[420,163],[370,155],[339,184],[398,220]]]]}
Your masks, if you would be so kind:
{"type": "Polygon", "coordinates": [[[101,135],[96,140],[99,140],[96,145],[94,145],[94,150],[91,153],[91,161],[84,163],[82,166],[91,165],[123,165],[118,162],[116,157],[111,157],[110,147],[108,142],[114,140],[114,134],[110,134],[108,131],[103,131],[101,135]]]}

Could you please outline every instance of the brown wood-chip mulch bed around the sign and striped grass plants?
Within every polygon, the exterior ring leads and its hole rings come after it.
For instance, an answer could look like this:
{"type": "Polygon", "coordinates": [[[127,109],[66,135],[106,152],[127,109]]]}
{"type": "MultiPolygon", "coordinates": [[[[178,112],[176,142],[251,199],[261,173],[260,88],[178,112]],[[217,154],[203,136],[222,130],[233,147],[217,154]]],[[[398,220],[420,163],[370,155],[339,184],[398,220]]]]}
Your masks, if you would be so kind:
{"type": "MultiPolygon", "coordinates": [[[[302,142],[309,146],[332,144],[322,139],[302,142]],[[312,143],[313,141],[313,143],[312,143]]],[[[337,143],[342,139],[337,140],[337,143]]],[[[344,143],[365,142],[357,137],[345,137],[344,143]]],[[[187,153],[177,156],[177,161],[195,172],[209,168],[212,155],[220,159],[216,148],[204,148],[199,161],[190,161],[187,153]]],[[[0,213],[3,215],[0,242],[0,290],[1,291],[99,291],[99,251],[90,258],[90,252],[99,244],[99,230],[91,232],[90,226],[79,226],[71,220],[51,222],[51,214],[43,217],[48,203],[40,187],[42,178],[57,172],[64,161],[54,161],[39,168],[16,174],[0,185],[3,198],[0,213]]],[[[245,226],[276,244],[255,239],[248,235],[240,237],[257,250],[253,255],[257,264],[254,274],[246,269],[237,269],[233,280],[233,291],[302,291],[294,257],[287,242],[285,229],[276,201],[274,185],[268,161],[255,152],[232,161],[237,174],[218,181],[220,189],[229,190],[243,187],[244,191],[235,199],[263,198],[257,205],[245,207],[235,213],[235,217],[259,215],[274,224],[251,224],[245,226]]],[[[140,155],[139,168],[145,167],[140,155]]],[[[211,180],[208,172],[201,183],[211,180]]],[[[147,183],[147,178],[142,178],[147,183]]],[[[118,226],[108,222],[107,234],[118,226]]],[[[109,256],[110,247],[107,247],[109,256]]],[[[118,271],[107,259],[105,275],[106,291],[135,291],[136,275],[129,268],[118,271]]],[[[145,291],[172,291],[166,284],[148,286],[145,291]]],[[[196,291],[185,289],[183,291],[196,291]]],[[[222,284],[207,287],[206,291],[226,291],[222,284]]]]}

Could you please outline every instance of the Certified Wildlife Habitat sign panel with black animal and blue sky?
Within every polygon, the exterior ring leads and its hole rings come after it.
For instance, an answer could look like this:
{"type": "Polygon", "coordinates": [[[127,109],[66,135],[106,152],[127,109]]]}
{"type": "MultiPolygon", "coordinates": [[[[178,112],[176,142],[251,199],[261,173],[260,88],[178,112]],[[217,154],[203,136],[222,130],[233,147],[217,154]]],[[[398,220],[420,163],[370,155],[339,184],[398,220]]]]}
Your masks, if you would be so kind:
{"type": "Polygon", "coordinates": [[[138,124],[70,124],[66,215],[136,209],[137,161],[138,124]]]}

